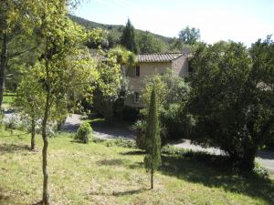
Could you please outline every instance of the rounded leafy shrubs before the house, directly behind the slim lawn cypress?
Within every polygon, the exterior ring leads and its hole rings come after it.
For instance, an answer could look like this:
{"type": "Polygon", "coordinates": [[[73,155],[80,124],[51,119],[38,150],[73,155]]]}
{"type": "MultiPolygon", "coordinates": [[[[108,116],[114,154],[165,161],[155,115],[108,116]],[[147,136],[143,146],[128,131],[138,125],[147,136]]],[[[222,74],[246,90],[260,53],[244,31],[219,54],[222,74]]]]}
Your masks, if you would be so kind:
{"type": "Polygon", "coordinates": [[[191,131],[193,120],[185,110],[189,97],[190,87],[184,78],[176,77],[172,72],[147,78],[142,90],[142,100],[146,108],[142,114],[146,115],[149,108],[150,93],[155,87],[159,105],[162,143],[166,139],[187,138],[191,131]]]}

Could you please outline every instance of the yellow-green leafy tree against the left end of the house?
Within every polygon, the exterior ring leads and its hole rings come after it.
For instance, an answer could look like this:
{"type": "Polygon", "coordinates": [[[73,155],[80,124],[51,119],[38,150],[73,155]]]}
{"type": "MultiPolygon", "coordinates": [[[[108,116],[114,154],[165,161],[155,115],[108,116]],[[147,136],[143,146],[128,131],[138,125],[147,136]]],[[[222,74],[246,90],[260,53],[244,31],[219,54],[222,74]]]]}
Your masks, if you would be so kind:
{"type": "Polygon", "coordinates": [[[99,77],[94,92],[93,108],[110,121],[116,111],[115,103],[128,95],[128,84],[122,67],[132,67],[135,56],[121,46],[111,48],[104,55],[105,58],[97,67],[99,77]]]}

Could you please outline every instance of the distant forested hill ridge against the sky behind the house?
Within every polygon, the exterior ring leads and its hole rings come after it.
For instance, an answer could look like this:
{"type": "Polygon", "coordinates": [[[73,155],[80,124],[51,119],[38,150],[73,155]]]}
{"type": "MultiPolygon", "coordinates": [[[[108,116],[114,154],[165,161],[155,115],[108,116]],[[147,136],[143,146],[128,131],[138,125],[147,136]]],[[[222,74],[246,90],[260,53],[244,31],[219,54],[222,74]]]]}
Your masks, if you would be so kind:
{"type": "MultiPolygon", "coordinates": [[[[81,18],[81,17],[76,16],[76,15],[69,15],[69,17],[74,22],[78,23],[80,26],[86,27],[87,29],[93,29],[93,28],[100,27],[102,29],[108,30],[111,33],[111,35],[115,38],[119,38],[121,36],[121,32],[124,28],[124,26],[121,26],[121,25],[104,25],[104,24],[96,23],[96,22],[81,18]]],[[[134,24],[134,22],[133,22],[133,24],[134,24]]],[[[139,30],[139,29],[136,29],[136,31],[137,31],[137,35],[138,35],[138,33],[141,33],[141,34],[145,33],[145,31],[142,31],[142,30],[139,30]]],[[[163,41],[163,43],[166,44],[166,45],[170,44],[173,41],[172,37],[156,35],[156,34],[153,34],[151,32],[149,32],[149,33],[152,34],[155,38],[163,41]]]]}

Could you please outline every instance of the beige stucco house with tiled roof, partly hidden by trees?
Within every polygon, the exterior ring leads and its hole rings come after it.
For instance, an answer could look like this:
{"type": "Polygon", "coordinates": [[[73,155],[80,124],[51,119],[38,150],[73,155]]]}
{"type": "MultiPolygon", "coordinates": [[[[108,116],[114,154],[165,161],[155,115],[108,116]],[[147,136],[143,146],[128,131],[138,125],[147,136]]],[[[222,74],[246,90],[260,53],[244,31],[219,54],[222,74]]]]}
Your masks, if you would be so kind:
{"type": "Polygon", "coordinates": [[[187,55],[188,52],[138,55],[136,66],[132,72],[127,72],[132,96],[125,99],[125,106],[132,108],[144,107],[141,92],[146,77],[163,74],[168,69],[172,69],[176,76],[185,77],[188,74],[187,55]]]}

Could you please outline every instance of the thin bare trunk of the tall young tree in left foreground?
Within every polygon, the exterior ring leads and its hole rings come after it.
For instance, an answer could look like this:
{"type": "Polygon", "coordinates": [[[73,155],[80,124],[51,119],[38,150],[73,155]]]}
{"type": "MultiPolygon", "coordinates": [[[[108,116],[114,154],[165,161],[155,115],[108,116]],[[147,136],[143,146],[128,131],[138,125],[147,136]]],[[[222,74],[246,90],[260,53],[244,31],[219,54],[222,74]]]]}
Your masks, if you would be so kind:
{"type": "Polygon", "coordinates": [[[47,101],[46,101],[46,108],[45,108],[45,114],[42,122],[42,138],[44,142],[43,151],[42,151],[42,157],[43,157],[43,175],[44,175],[44,181],[43,181],[43,203],[45,205],[49,205],[49,194],[48,194],[48,188],[47,188],[47,146],[48,146],[48,140],[47,140],[47,118],[49,114],[49,95],[50,93],[47,92],[47,101]]]}

